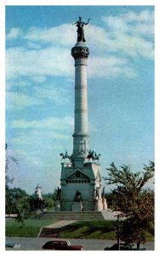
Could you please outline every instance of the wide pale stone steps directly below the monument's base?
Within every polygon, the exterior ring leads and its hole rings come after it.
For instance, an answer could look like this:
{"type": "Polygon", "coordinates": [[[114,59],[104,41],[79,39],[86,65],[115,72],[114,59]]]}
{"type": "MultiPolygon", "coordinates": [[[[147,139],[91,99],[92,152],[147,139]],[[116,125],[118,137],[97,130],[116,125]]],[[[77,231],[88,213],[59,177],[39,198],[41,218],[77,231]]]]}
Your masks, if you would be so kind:
{"type": "Polygon", "coordinates": [[[101,212],[43,212],[38,215],[40,219],[56,219],[56,220],[104,220],[101,212]]]}

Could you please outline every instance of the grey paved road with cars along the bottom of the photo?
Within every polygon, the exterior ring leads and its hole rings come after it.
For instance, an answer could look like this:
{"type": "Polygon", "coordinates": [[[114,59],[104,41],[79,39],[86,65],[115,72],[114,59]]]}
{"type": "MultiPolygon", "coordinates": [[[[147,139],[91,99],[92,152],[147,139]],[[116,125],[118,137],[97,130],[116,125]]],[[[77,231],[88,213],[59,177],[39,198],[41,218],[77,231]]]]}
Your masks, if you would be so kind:
{"type": "MultiPolygon", "coordinates": [[[[20,249],[17,250],[42,250],[42,246],[49,238],[26,238],[26,237],[7,237],[6,242],[14,241],[20,243],[20,249]]],[[[116,241],[111,240],[97,240],[97,239],[70,239],[71,244],[83,245],[84,251],[102,251],[105,247],[110,247],[116,241]]],[[[142,246],[143,247],[143,246],[142,246]]],[[[154,250],[154,242],[146,242],[146,250],[154,250]]],[[[15,249],[14,249],[15,250],[15,249]]]]}

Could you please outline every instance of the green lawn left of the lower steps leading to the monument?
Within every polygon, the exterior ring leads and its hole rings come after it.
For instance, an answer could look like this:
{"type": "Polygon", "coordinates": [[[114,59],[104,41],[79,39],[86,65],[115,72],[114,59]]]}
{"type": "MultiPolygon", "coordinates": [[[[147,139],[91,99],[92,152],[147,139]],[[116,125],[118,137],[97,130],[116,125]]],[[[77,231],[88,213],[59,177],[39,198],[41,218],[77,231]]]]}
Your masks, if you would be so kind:
{"type": "Polygon", "coordinates": [[[6,219],[6,236],[37,237],[42,227],[53,224],[53,219],[26,218],[21,228],[14,219],[6,219]]]}

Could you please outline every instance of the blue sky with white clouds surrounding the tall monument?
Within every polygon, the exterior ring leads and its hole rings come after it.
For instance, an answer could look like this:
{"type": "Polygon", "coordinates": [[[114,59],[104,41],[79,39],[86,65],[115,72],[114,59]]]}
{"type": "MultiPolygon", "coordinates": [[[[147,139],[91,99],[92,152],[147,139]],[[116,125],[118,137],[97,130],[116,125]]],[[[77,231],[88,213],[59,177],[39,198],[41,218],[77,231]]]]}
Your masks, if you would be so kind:
{"type": "Polygon", "coordinates": [[[90,148],[102,176],[115,162],[141,171],[154,159],[154,9],[151,6],[6,7],[6,142],[14,185],[33,193],[60,184],[72,152],[76,26],[89,46],[90,148]]]}

